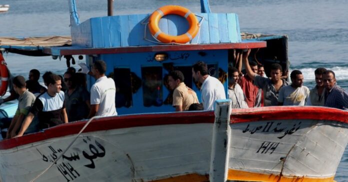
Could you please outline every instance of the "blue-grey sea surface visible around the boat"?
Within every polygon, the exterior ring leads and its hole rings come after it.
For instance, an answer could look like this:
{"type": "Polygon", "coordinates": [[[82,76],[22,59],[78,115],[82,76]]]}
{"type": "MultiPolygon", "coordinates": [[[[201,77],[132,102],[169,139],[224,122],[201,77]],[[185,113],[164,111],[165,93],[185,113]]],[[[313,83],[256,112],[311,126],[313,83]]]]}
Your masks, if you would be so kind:
{"type": "MultiPolygon", "coordinates": [[[[107,0],[76,0],[81,22],[107,14],[107,0]]],[[[1,0],[9,4],[0,14],[0,36],[70,35],[67,0],[1,0]]],[[[114,0],[114,14],[150,13],[157,7],[178,4],[200,11],[199,0],[114,0]]],[[[212,12],[235,12],[246,32],[287,34],[290,69],[300,69],[305,85],[313,87],[314,69],[336,73],[338,84],[348,89],[347,0],[210,0],[212,12]]],[[[27,76],[32,68],[63,73],[65,61],[49,56],[5,54],[14,75],[27,76]]],[[[77,59],[76,59],[77,60],[77,59]]],[[[348,181],[348,149],[338,166],[336,181],[348,181]]]]}

